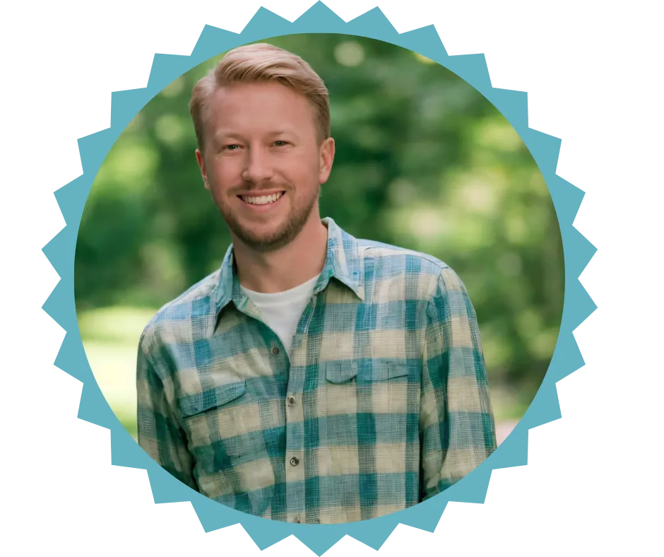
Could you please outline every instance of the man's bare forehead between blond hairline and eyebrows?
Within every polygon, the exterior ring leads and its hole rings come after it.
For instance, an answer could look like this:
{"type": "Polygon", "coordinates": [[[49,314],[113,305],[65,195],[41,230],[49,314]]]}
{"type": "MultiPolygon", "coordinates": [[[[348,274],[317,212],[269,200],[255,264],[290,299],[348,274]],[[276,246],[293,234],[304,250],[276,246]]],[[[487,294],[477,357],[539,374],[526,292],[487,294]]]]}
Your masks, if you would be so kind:
{"type": "Polygon", "coordinates": [[[281,83],[237,83],[218,88],[208,102],[215,131],[242,128],[260,131],[274,126],[312,124],[313,107],[298,91],[281,83]]]}

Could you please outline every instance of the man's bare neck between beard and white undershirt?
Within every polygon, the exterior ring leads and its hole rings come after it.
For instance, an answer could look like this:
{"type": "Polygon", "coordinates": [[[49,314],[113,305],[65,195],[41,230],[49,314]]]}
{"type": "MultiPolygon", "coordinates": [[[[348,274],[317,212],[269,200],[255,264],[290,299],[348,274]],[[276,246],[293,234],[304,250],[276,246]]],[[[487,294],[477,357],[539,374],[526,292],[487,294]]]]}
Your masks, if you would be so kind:
{"type": "Polygon", "coordinates": [[[314,211],[297,238],[275,252],[255,252],[242,242],[234,241],[239,283],[262,293],[278,293],[300,286],[323,269],[327,239],[327,227],[314,211]]]}

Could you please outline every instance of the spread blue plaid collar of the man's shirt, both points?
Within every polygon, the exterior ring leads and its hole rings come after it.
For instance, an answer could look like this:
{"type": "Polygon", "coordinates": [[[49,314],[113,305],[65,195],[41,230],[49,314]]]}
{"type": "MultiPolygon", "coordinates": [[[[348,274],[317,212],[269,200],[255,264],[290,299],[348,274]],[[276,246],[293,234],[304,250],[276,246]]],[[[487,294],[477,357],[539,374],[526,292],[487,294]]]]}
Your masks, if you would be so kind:
{"type": "MultiPolygon", "coordinates": [[[[321,219],[328,229],[327,256],[321,276],[314,286],[314,294],[323,291],[330,279],[336,279],[364,300],[363,259],[360,257],[357,239],[340,228],[332,218],[321,219]]],[[[221,310],[230,302],[241,308],[247,303],[237,280],[233,245],[228,250],[221,265],[219,279],[213,292],[215,324],[221,310]]]]}

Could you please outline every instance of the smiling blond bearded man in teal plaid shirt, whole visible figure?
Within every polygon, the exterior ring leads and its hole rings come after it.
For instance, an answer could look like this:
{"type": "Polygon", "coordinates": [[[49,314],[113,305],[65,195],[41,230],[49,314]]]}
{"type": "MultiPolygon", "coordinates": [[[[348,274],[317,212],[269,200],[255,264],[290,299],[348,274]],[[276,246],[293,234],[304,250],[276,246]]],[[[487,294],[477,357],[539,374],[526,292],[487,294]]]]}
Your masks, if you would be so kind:
{"type": "Polygon", "coordinates": [[[438,259],[321,219],[319,76],[239,47],[190,107],[232,245],[141,336],[141,447],[223,505],[302,523],[396,512],[473,471],[496,440],[468,293],[438,259]]]}

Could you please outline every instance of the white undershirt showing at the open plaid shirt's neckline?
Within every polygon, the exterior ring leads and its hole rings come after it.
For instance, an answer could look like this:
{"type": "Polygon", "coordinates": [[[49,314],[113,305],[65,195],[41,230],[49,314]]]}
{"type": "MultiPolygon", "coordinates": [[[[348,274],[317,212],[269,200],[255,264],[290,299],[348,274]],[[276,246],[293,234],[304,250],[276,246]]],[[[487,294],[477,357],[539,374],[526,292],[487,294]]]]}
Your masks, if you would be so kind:
{"type": "Polygon", "coordinates": [[[290,358],[290,348],[297,324],[300,322],[304,308],[307,307],[314,294],[316,281],[318,281],[318,276],[314,276],[313,279],[309,279],[300,286],[274,294],[254,292],[244,286],[241,287],[242,291],[261,310],[266,325],[281,339],[288,358],[290,358]]]}

